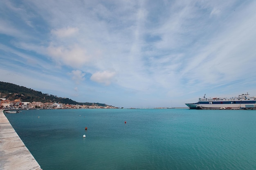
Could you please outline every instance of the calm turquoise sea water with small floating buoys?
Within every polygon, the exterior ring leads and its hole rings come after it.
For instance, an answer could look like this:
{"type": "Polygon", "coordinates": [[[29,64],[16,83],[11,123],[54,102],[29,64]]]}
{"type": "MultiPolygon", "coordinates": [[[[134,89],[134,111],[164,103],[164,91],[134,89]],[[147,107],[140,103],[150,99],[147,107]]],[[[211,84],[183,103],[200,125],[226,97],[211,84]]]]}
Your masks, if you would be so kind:
{"type": "Polygon", "coordinates": [[[5,115],[43,170],[256,170],[256,110],[22,110],[5,115]]]}

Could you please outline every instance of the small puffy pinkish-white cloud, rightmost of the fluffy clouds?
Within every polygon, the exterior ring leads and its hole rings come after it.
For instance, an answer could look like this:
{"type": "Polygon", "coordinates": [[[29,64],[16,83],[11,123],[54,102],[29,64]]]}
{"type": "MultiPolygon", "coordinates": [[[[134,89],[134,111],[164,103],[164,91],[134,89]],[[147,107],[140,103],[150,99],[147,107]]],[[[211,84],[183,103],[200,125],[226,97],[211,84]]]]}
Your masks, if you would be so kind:
{"type": "Polygon", "coordinates": [[[91,80],[105,85],[110,85],[116,73],[114,71],[98,71],[91,76],[91,80]]]}

